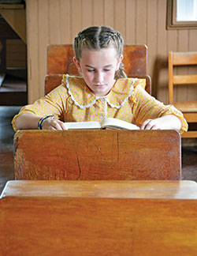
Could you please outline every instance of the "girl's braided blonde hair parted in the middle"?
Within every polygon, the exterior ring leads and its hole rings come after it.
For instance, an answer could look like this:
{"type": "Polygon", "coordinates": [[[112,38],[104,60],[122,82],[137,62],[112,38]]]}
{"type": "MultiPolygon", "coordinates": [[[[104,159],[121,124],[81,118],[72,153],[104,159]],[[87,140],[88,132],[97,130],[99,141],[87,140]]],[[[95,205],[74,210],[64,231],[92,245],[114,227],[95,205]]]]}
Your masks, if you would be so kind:
{"type": "MultiPolygon", "coordinates": [[[[85,28],[78,33],[73,43],[73,49],[78,61],[80,61],[84,48],[88,50],[100,50],[111,46],[117,51],[117,59],[120,58],[124,47],[123,37],[120,32],[107,26],[85,28]]],[[[127,76],[124,72],[124,64],[121,62],[114,78],[117,80],[122,77],[127,76]]]]}

